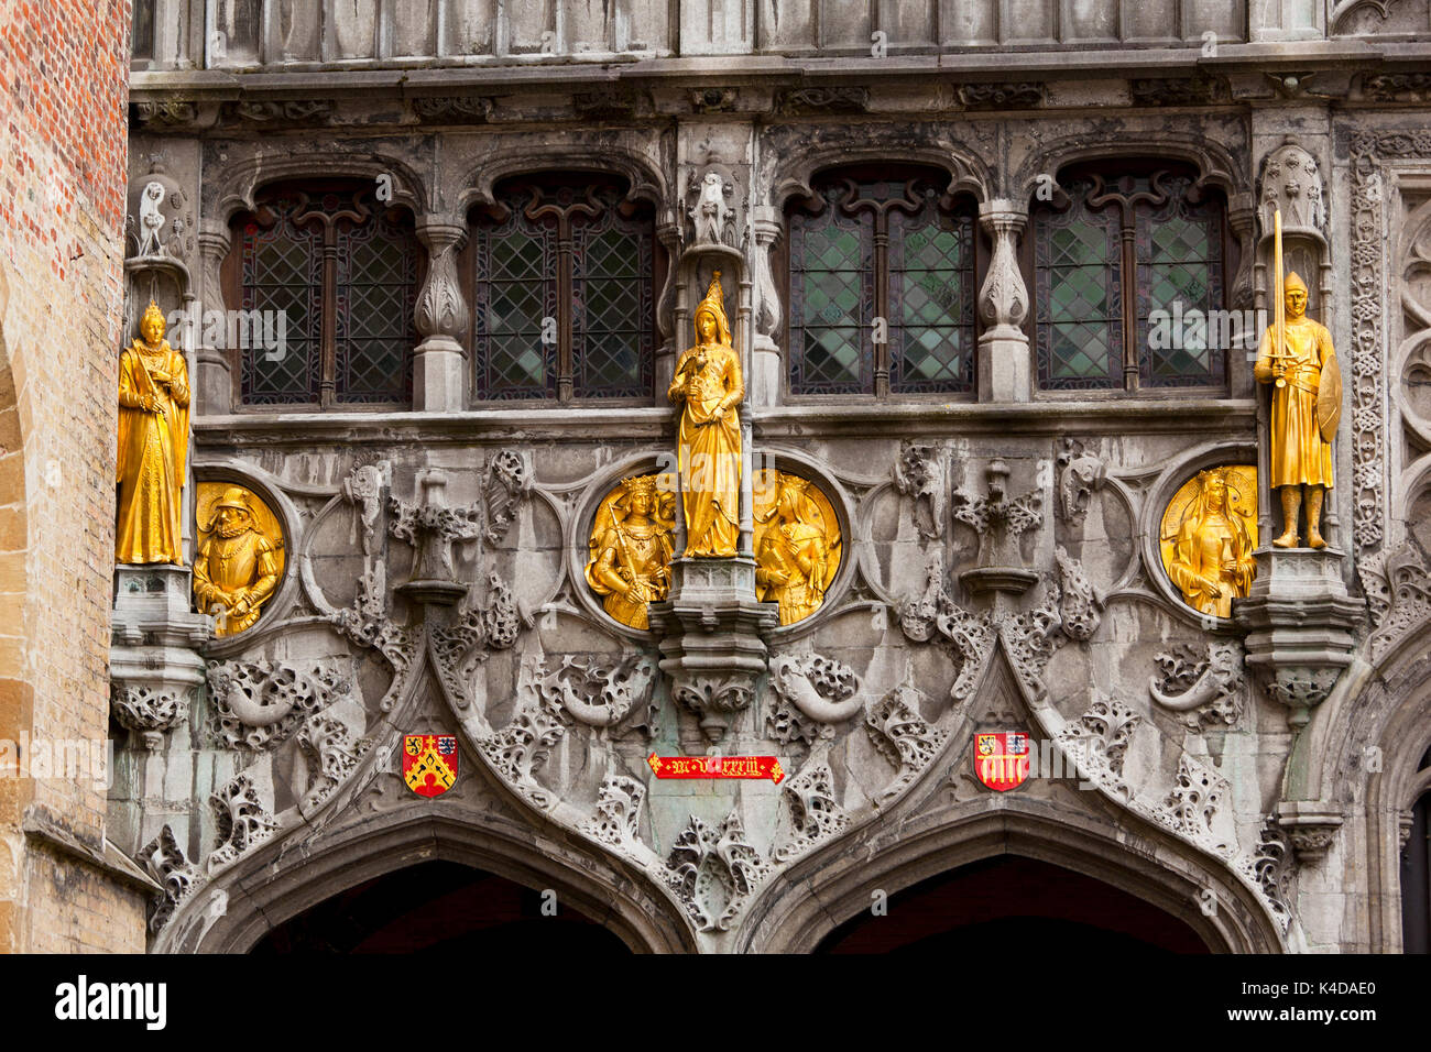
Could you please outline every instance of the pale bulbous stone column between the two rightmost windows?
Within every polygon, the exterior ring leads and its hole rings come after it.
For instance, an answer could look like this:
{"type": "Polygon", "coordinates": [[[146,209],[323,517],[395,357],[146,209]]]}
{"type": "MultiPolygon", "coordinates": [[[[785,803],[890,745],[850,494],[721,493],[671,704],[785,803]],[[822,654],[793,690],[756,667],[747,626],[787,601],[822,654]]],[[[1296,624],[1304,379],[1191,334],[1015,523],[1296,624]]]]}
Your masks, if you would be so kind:
{"type": "Polygon", "coordinates": [[[1019,272],[1017,246],[1029,222],[1027,209],[1007,199],[979,205],[979,222],[993,239],[989,276],[979,291],[979,336],[975,374],[980,402],[1027,402],[1033,394],[1032,355],[1023,322],[1029,291],[1019,272]]]}

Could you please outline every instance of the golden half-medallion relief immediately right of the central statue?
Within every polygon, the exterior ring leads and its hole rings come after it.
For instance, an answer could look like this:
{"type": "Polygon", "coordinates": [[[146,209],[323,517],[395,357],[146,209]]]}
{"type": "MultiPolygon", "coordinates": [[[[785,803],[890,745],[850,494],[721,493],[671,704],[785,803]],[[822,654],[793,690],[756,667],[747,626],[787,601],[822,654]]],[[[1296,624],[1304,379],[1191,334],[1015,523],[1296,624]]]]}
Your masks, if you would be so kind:
{"type": "Polygon", "coordinates": [[[780,624],[810,617],[840,568],[840,524],[820,488],[798,475],[760,472],[756,588],[780,604],[780,624]]]}

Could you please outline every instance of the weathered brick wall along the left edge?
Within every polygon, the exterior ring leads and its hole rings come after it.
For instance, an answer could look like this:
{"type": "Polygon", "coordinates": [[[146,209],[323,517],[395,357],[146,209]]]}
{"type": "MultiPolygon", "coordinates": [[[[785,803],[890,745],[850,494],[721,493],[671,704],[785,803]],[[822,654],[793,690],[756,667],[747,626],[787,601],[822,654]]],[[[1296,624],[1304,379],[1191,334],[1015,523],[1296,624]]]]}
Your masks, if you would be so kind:
{"type": "MultiPolygon", "coordinates": [[[[0,4],[0,739],[109,729],[129,19],[0,4]]],[[[0,777],[0,950],[142,949],[137,893],[26,814],[100,854],[104,789],[0,777]]]]}

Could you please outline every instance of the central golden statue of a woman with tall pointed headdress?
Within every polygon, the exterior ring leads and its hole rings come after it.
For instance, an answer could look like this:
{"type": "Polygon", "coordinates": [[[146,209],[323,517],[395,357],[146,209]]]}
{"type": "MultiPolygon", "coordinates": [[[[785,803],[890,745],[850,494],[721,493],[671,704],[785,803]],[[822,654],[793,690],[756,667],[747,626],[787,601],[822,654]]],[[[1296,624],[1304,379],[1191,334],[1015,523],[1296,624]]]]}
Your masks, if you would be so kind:
{"type": "Polygon", "coordinates": [[[665,392],[681,412],[681,507],[687,555],[734,555],[740,541],[740,414],[746,396],[730,342],[720,271],[695,308],[695,346],[681,355],[665,392]]]}

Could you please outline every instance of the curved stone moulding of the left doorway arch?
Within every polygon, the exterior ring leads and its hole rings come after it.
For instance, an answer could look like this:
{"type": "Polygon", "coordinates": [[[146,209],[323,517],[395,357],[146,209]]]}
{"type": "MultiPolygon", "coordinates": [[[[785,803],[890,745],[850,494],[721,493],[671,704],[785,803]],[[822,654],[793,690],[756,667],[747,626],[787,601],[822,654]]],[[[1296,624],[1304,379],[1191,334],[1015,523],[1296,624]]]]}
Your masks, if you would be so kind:
{"type": "Polygon", "coordinates": [[[426,802],[366,814],[273,859],[255,852],[203,885],[153,952],[243,953],[269,930],[349,887],[418,862],[446,860],[557,892],[558,903],[614,932],[638,953],[694,952],[673,903],[644,877],[575,840],[534,837],[524,823],[469,812],[434,814],[426,802]],[[220,913],[222,910],[222,913],[220,913]]]}

